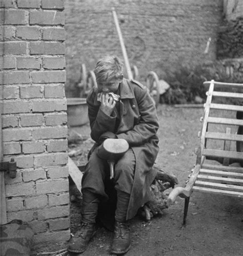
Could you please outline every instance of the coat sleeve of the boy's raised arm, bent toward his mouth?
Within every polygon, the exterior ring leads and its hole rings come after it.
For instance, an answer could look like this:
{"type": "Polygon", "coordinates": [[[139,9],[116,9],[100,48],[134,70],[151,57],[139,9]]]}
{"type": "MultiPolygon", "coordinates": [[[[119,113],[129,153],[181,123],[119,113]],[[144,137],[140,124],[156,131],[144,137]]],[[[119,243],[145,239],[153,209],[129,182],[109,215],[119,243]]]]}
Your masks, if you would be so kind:
{"type": "Polygon", "coordinates": [[[99,137],[105,132],[114,132],[115,130],[115,113],[112,116],[106,115],[102,110],[100,110],[99,105],[95,105],[96,94],[94,90],[91,90],[87,97],[88,105],[88,116],[91,128],[91,138],[98,142],[99,137]]]}

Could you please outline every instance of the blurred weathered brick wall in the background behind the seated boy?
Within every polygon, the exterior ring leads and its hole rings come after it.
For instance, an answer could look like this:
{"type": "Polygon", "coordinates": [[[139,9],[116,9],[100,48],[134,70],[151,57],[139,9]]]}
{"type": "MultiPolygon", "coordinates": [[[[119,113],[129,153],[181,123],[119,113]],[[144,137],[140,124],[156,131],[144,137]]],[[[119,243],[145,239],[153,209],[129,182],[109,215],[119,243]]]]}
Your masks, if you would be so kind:
{"type": "Polygon", "coordinates": [[[123,57],[111,7],[130,64],[137,66],[143,82],[150,70],[163,78],[182,64],[215,60],[222,6],[221,0],[66,0],[67,88],[77,81],[82,63],[91,70],[105,54],[123,57]]]}

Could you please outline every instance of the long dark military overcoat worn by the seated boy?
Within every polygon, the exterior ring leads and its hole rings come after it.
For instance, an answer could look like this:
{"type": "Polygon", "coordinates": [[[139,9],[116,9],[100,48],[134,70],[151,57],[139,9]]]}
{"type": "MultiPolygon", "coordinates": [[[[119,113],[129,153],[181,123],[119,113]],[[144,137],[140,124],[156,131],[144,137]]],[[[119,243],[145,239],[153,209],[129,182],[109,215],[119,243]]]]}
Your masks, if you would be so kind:
{"type": "Polygon", "coordinates": [[[120,107],[111,116],[99,109],[97,88],[87,97],[91,138],[98,142],[105,132],[115,133],[126,139],[135,155],[135,174],[131,190],[127,219],[132,218],[139,207],[150,200],[150,185],[156,173],[151,167],[158,153],[158,118],[156,108],[147,87],[134,80],[123,79],[119,85],[120,107]],[[117,125],[117,116],[120,117],[117,125]]]}

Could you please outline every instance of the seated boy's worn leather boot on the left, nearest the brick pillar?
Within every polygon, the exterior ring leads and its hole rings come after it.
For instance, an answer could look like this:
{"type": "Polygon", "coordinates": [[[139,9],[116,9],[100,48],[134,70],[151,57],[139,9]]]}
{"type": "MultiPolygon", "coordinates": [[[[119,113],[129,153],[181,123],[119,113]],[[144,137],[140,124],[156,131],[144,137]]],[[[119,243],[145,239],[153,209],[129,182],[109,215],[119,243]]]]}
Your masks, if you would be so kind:
{"type": "Polygon", "coordinates": [[[75,253],[84,252],[96,230],[94,223],[82,223],[80,229],[70,239],[68,250],[75,253]]]}

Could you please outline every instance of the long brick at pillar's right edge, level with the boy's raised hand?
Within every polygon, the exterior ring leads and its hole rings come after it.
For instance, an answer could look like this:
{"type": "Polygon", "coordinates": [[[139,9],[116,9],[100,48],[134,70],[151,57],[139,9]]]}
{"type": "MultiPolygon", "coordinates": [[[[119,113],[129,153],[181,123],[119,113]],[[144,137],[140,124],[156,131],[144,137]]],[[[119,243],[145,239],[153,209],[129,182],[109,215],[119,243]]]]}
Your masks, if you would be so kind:
{"type": "Polygon", "coordinates": [[[32,101],[33,112],[66,111],[67,100],[36,100],[32,101]]]}

